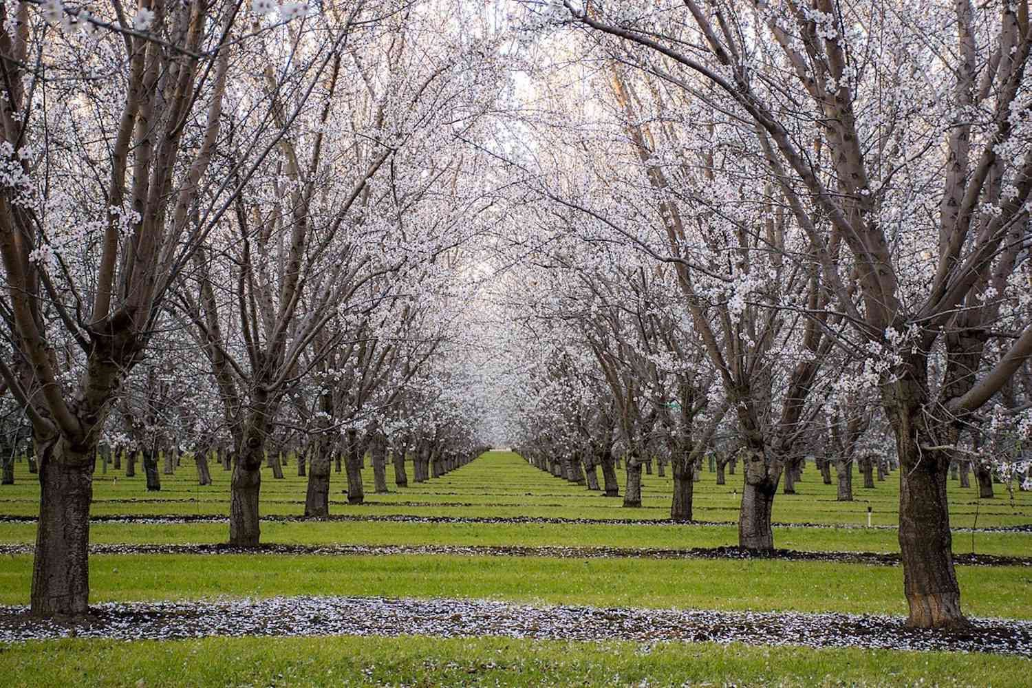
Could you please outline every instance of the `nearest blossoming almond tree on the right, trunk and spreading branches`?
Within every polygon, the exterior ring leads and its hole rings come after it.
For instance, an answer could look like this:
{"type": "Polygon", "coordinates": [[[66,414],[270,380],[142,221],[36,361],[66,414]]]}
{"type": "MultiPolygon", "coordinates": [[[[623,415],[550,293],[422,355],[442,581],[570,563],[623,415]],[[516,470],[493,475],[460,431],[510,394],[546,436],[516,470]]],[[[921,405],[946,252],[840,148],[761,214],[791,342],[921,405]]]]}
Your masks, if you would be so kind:
{"type": "Polygon", "coordinates": [[[884,352],[876,373],[900,461],[908,623],[964,625],[948,466],[961,423],[1032,354],[1026,324],[986,357],[992,326],[1028,300],[1015,291],[1027,293],[1015,268],[1032,195],[1028,3],[685,0],[658,31],[645,3],[619,15],[565,7],[691,98],[718,92],[756,132],[837,317],[884,352]],[[668,21],[686,35],[672,40],[668,21]]]}

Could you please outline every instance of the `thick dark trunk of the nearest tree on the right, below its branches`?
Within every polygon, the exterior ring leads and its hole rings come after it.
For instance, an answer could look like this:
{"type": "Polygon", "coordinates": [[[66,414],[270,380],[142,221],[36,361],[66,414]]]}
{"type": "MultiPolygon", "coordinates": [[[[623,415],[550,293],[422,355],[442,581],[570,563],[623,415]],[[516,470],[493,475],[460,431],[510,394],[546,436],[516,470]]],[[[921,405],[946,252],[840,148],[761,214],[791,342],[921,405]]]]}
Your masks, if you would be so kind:
{"type": "MultiPolygon", "coordinates": [[[[960,586],[954,570],[953,537],[946,482],[949,454],[929,450],[948,436],[947,428],[929,428],[926,365],[914,357],[896,382],[882,386],[882,403],[896,435],[900,461],[899,542],[903,590],[910,607],[907,625],[961,627],[960,586]],[[924,447],[923,447],[924,446],[924,447]]],[[[944,444],[949,444],[944,443],[944,444]]]]}

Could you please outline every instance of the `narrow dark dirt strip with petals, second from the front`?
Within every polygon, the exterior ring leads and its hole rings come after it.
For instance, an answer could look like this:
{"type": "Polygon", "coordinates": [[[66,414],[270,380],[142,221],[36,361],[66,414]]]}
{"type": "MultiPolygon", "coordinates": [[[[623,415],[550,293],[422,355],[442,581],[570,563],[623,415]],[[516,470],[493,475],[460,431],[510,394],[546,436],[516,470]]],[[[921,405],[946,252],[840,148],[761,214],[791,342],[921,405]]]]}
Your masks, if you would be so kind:
{"type": "MultiPolygon", "coordinates": [[[[31,545],[0,545],[0,556],[32,554],[31,545]]],[[[763,552],[739,547],[690,549],[623,547],[490,547],[438,545],[259,545],[253,548],[223,544],[206,545],[91,545],[90,554],[273,554],[318,556],[444,555],[477,557],[553,557],[558,559],[777,559],[781,561],[829,561],[835,563],[896,566],[900,555],[879,552],[802,552],[773,550],[763,552]]],[[[955,554],[954,561],[964,566],[1028,566],[1032,557],[1008,557],[988,554],[955,554]]]]}

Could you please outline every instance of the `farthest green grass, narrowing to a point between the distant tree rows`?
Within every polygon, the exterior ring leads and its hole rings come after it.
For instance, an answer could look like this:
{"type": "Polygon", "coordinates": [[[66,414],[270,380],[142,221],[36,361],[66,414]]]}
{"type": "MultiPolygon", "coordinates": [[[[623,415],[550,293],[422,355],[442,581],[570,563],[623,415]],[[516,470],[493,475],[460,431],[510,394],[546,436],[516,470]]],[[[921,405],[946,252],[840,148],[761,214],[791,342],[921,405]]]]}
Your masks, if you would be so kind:
{"type": "MultiPolygon", "coordinates": [[[[410,476],[412,474],[410,464],[410,476]]],[[[28,472],[27,464],[15,464],[13,486],[0,488],[0,514],[34,516],[38,512],[39,486],[36,477],[28,472]]],[[[411,516],[531,516],[590,519],[665,519],[669,517],[671,492],[670,471],[667,477],[643,477],[643,507],[623,509],[620,498],[605,498],[598,492],[570,484],[529,466],[510,452],[488,452],[476,461],[443,478],[427,483],[411,483],[407,488],[393,485],[393,469],[388,468],[390,494],[373,493],[373,470],[366,465],[366,499],[361,506],[344,502],[346,487],[343,473],[331,474],[330,497],[335,503],[331,511],[340,514],[411,516]]],[[[125,478],[124,468],[94,474],[95,515],[225,515],[229,511],[229,471],[212,464],[215,484],[196,485],[192,459],[186,458],[174,476],[162,476],[160,492],[148,492],[142,470],[125,478]]],[[[267,468],[262,477],[262,514],[299,516],[303,513],[307,488],[304,478],[296,476],[296,467],[285,468],[286,478],[275,480],[267,468]]],[[[618,470],[621,483],[625,472],[618,470]]],[[[696,485],[696,518],[707,521],[735,521],[741,494],[742,477],[728,476],[727,485],[716,485],[715,474],[703,472],[696,485]]],[[[874,525],[896,525],[899,500],[898,476],[877,482],[873,490],[861,487],[856,476],[856,501],[835,500],[835,486],[824,485],[818,471],[810,466],[799,484],[799,494],[778,494],[774,501],[774,519],[785,523],[823,523],[860,525],[867,521],[867,507],[872,509],[874,525]]],[[[973,479],[972,479],[973,484],[973,479]]],[[[1032,493],[1014,492],[1011,503],[1003,485],[996,486],[997,497],[978,500],[975,488],[962,489],[950,481],[950,524],[954,527],[999,527],[1032,523],[1032,493]]]]}

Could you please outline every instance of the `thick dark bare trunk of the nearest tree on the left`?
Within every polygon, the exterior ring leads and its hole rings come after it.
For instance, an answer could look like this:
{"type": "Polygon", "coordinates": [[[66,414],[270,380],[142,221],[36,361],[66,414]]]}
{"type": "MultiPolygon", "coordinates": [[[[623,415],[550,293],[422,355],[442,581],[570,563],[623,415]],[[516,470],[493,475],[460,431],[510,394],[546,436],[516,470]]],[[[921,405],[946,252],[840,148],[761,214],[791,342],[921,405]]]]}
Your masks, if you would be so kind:
{"type": "Polygon", "coordinates": [[[39,521],[32,562],[31,613],[80,616],[90,596],[90,501],[95,447],[82,454],[64,441],[37,445],[39,521]]]}

